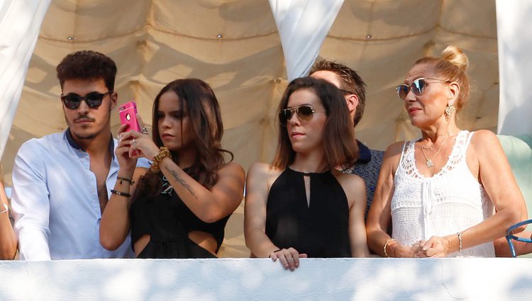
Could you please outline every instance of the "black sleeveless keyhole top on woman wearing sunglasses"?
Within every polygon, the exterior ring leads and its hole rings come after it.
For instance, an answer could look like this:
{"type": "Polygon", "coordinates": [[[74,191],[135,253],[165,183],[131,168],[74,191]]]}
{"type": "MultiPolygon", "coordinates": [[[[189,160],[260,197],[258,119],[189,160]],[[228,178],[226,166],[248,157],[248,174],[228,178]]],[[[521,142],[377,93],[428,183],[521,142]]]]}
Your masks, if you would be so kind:
{"type": "Polygon", "coordinates": [[[351,257],[349,203],[333,174],[285,169],[270,188],[266,235],[277,247],[309,257],[351,257]],[[310,176],[310,205],[303,176],[310,176]]]}

